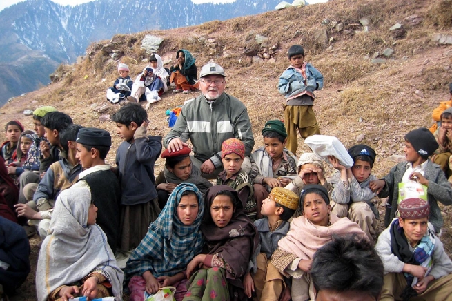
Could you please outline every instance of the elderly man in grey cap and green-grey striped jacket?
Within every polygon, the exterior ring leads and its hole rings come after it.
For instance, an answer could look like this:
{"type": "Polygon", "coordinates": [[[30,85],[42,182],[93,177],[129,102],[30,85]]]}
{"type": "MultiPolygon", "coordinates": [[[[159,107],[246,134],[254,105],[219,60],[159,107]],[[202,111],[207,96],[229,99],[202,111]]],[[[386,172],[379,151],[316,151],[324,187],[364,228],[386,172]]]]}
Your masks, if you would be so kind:
{"type": "Polygon", "coordinates": [[[222,143],[228,138],[238,138],[245,144],[242,169],[249,172],[249,156],[254,146],[253,132],[246,107],[237,98],[224,92],[226,75],[215,63],[201,69],[199,88],[202,94],[188,101],[181,114],[164,138],[164,146],[176,152],[190,138],[193,144],[193,165],[199,167],[204,178],[216,178],[223,170],[222,143]]]}

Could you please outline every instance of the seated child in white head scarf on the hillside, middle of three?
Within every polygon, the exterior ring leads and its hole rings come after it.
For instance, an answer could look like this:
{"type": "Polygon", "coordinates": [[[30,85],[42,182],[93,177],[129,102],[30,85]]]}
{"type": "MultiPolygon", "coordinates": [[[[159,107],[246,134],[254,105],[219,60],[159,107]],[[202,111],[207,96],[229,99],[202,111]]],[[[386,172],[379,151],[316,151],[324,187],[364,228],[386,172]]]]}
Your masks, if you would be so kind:
{"type": "Polygon", "coordinates": [[[148,65],[133,83],[132,96],[137,102],[141,100],[146,100],[148,103],[161,101],[161,94],[168,91],[166,82],[169,77],[159,54],[150,54],[148,65]],[[146,99],[142,99],[143,95],[146,99]]]}

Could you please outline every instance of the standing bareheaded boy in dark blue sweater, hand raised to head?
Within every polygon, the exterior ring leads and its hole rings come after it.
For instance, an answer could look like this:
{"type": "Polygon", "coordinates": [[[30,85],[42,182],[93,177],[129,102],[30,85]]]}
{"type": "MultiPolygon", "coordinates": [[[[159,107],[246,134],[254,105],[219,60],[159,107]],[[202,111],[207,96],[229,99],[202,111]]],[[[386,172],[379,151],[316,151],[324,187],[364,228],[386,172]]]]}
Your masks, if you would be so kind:
{"type": "Polygon", "coordinates": [[[146,135],[148,114],[138,103],[127,103],[112,120],[124,140],[116,152],[116,171],[121,185],[120,249],[128,252],[139,245],[160,213],[154,164],[161,137],[146,135]]]}

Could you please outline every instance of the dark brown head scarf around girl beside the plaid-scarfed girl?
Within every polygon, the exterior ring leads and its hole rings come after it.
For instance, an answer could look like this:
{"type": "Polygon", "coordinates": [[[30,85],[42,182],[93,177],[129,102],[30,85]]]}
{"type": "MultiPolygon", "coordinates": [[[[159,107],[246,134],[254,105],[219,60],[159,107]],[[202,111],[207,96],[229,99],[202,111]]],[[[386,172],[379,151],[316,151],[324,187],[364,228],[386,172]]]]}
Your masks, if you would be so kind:
{"type": "MultiPolygon", "coordinates": [[[[246,200],[244,200],[246,202],[246,200]]],[[[206,238],[208,253],[217,255],[228,263],[233,273],[226,271],[228,281],[241,287],[239,277],[246,273],[248,262],[259,245],[259,233],[253,222],[244,214],[244,203],[237,191],[227,185],[210,187],[206,192],[206,212],[201,224],[201,231],[206,238]],[[235,196],[234,213],[228,225],[217,227],[212,220],[210,207],[219,191],[230,191],[235,196]]]]}

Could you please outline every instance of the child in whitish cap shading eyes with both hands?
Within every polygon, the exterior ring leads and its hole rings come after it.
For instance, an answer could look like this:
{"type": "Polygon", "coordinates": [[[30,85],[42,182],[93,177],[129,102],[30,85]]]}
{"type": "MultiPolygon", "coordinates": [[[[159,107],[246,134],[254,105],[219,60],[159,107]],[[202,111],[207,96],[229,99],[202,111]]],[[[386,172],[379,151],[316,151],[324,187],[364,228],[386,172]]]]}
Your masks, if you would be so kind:
{"type": "MultiPolygon", "coordinates": [[[[324,160],[314,153],[304,153],[299,156],[297,164],[298,176],[296,176],[291,183],[285,188],[289,189],[297,196],[302,194],[302,191],[306,185],[318,184],[325,187],[328,194],[331,191],[331,185],[325,178],[325,167],[323,165],[324,160]]],[[[300,204],[293,214],[293,218],[303,215],[303,208],[300,204]]]]}

